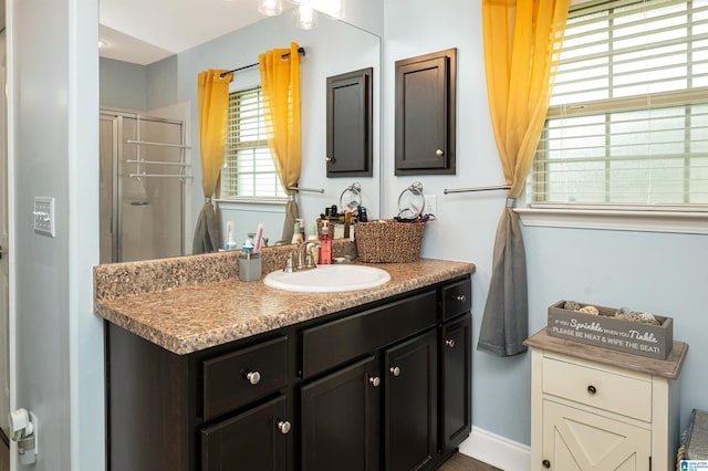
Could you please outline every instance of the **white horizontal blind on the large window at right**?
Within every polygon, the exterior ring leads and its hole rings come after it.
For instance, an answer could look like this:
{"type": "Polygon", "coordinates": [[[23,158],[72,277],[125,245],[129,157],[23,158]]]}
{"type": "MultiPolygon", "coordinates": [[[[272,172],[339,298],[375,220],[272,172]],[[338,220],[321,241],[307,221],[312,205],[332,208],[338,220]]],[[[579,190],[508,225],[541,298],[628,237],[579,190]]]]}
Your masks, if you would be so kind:
{"type": "Polygon", "coordinates": [[[708,0],[573,7],[532,207],[708,209],[708,0]]]}

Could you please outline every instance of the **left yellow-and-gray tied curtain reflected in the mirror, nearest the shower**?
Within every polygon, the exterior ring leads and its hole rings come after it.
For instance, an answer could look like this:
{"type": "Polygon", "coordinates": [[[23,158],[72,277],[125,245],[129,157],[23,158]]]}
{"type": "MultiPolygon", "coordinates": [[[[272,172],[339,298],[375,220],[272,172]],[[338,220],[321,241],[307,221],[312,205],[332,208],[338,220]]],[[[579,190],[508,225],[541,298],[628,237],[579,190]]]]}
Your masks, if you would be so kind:
{"type": "Polygon", "coordinates": [[[211,197],[217,188],[223,164],[226,127],[229,117],[229,82],[232,74],[209,69],[197,76],[199,106],[199,150],[201,158],[201,188],[205,203],[199,212],[192,242],[194,253],[214,252],[221,248],[221,223],[211,197]],[[223,76],[221,74],[223,73],[223,76]]]}

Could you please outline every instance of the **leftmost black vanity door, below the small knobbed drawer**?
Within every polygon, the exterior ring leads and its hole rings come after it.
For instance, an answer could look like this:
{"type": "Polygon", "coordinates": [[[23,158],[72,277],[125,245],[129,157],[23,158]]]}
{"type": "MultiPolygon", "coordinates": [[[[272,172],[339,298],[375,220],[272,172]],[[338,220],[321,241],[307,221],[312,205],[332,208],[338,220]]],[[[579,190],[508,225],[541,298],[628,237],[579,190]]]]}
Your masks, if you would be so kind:
{"type": "Polygon", "coordinates": [[[201,470],[288,470],[291,423],[281,396],[201,431],[201,470]]]}

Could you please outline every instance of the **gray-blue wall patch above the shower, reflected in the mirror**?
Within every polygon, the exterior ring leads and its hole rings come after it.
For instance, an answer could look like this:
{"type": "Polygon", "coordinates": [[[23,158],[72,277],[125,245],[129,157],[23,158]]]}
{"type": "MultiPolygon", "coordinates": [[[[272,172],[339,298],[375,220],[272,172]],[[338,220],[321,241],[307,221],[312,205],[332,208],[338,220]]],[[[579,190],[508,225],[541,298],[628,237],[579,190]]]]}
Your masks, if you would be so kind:
{"type": "Polygon", "coordinates": [[[101,57],[102,107],[142,112],[147,109],[147,67],[101,57]]]}

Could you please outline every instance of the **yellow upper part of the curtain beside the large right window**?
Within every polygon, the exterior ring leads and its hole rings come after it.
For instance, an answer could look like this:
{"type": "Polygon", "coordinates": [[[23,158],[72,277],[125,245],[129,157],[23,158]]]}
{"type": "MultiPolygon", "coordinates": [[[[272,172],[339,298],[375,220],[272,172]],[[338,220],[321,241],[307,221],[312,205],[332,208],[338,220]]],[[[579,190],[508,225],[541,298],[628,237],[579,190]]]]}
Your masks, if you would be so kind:
{"type": "Polygon", "coordinates": [[[485,0],[485,69],[509,198],[518,198],[551,100],[570,0],[485,0]]]}

